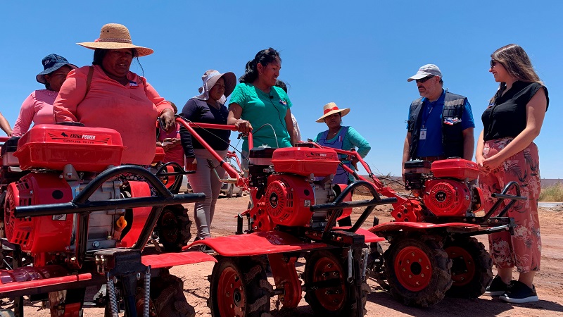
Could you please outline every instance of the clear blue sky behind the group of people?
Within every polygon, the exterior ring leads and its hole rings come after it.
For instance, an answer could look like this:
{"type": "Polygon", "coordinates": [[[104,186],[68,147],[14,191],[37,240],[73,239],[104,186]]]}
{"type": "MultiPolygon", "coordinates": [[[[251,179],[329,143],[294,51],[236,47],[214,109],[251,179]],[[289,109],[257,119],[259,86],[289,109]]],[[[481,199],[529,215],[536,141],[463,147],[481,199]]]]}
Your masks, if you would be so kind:
{"type": "MultiPolygon", "coordinates": [[[[444,87],[472,104],[475,135],[498,84],[490,55],[510,43],[524,47],[549,89],[550,107],[536,143],[543,178],[563,178],[562,1],[5,1],[0,20],[4,99],[13,125],[22,101],[42,85],[35,75],[51,53],[84,66],[92,52],[76,42],[121,23],[134,44],[155,54],[139,59],[148,82],[180,108],[197,94],[205,70],[243,74],[260,49],[281,51],[279,79],[289,83],[292,113],[304,137],[334,101],[343,118],[372,145],[367,161],[382,174],[400,173],[407,109],[419,97],[407,77],[435,63],[444,87]],[[557,128],[559,127],[559,128],[557,128]]],[[[132,71],[141,73],[139,66],[132,71]]],[[[127,120],[128,118],[124,118],[127,120]]],[[[132,120],[132,119],[130,119],[132,120]]]]}

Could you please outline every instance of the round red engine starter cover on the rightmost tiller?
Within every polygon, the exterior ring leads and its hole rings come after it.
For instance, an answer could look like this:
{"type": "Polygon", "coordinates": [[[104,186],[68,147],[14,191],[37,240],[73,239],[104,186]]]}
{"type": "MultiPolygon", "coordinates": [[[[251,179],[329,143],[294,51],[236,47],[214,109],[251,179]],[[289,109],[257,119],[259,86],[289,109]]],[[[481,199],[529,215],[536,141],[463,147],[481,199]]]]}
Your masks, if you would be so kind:
{"type": "Polygon", "coordinates": [[[465,216],[472,203],[469,188],[455,180],[428,180],[424,204],[436,216],[465,216]]]}

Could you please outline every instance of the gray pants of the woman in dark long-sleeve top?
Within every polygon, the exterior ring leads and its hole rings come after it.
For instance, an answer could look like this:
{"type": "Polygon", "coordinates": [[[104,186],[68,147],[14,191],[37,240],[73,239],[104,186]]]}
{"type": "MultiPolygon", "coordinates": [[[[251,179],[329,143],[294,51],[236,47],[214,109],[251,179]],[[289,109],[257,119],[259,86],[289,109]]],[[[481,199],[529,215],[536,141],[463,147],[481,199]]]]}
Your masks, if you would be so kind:
{"type": "MultiPolygon", "coordinates": [[[[203,192],[205,194],[205,201],[196,202],[194,209],[198,237],[201,239],[211,237],[211,220],[213,220],[215,204],[217,203],[217,197],[219,197],[223,183],[217,178],[215,172],[209,168],[207,159],[213,161],[213,166],[217,166],[219,162],[206,149],[194,149],[194,153],[196,154],[198,166],[196,173],[188,175],[188,180],[194,192],[203,192]]],[[[217,154],[224,157],[227,155],[227,151],[217,151],[217,154]]],[[[224,169],[216,167],[216,170],[217,174],[224,178],[224,169]]]]}

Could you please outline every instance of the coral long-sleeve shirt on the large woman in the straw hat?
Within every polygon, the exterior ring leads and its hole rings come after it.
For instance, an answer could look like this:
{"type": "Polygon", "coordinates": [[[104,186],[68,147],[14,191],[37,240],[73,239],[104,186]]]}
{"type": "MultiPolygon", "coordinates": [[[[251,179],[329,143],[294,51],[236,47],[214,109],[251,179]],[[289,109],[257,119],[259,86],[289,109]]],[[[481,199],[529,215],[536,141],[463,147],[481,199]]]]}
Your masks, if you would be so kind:
{"type": "Polygon", "coordinates": [[[129,72],[129,84],[124,86],[97,65],[84,97],[88,71],[89,66],[84,66],[68,73],[53,104],[55,122],[75,121],[87,127],[114,129],[127,147],[122,163],[150,164],[156,151],[155,121],[172,106],[139,75],[129,72]]]}

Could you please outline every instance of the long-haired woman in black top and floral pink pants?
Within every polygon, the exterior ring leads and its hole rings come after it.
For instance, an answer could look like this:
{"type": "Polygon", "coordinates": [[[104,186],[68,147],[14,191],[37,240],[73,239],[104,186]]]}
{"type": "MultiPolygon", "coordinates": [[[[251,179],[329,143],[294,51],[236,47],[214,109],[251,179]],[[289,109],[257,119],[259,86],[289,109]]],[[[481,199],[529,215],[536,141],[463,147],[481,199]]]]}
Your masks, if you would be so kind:
{"type": "Polygon", "coordinates": [[[500,299],[510,303],[538,302],[533,277],[540,269],[541,257],[540,170],[538,148],[533,140],[540,134],[548,110],[548,89],[517,44],[503,46],[491,54],[489,71],[500,85],[481,116],[483,131],[476,151],[485,209],[495,203],[491,194],[499,193],[512,180],[519,183],[521,195],[527,199],[518,201],[508,211],[516,223],[513,236],[508,232],[489,235],[489,249],[498,275],[486,294],[500,295],[500,299]],[[519,272],[518,280],[512,280],[514,266],[519,272]]]}

